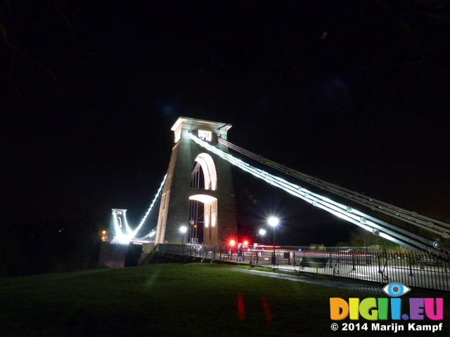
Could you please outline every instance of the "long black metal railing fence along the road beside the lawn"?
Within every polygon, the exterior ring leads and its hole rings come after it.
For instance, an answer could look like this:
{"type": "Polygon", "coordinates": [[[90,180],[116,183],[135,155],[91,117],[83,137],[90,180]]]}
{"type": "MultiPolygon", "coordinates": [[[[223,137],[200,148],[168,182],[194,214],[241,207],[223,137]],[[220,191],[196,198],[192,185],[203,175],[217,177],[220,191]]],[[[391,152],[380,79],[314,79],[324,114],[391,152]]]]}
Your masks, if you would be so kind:
{"type": "Polygon", "coordinates": [[[159,244],[160,253],[197,260],[273,267],[333,277],[349,277],[388,284],[450,291],[449,253],[382,251],[364,248],[258,247],[232,249],[195,245],[159,244]]]}

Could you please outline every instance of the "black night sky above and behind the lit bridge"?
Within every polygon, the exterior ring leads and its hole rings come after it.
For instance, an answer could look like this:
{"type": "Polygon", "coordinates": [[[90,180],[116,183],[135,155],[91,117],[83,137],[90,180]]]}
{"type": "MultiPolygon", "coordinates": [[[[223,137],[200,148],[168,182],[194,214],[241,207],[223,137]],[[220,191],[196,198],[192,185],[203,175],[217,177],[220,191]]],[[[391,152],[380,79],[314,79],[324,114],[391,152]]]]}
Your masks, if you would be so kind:
{"type": "MultiPolygon", "coordinates": [[[[141,220],[179,116],[233,124],[246,150],[449,222],[449,13],[414,0],[2,4],[1,223],[106,224],[113,208],[141,220]]],[[[354,228],[233,173],[240,232],[272,213],[284,244],[354,228]]]]}

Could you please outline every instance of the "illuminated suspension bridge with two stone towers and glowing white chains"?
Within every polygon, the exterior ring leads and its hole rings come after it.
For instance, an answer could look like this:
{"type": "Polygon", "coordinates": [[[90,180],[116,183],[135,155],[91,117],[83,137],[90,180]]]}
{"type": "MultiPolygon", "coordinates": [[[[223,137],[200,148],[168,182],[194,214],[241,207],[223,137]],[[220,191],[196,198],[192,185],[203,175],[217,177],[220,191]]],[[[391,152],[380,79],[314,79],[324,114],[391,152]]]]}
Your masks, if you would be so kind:
{"type": "MultiPolygon", "coordinates": [[[[218,253],[221,260],[233,260],[233,253],[221,251],[221,247],[229,245],[229,241],[236,238],[237,234],[236,201],[231,177],[231,166],[236,166],[251,176],[264,180],[267,184],[278,187],[321,211],[347,220],[368,232],[404,246],[411,252],[426,252],[435,254],[434,256],[437,257],[440,256],[442,260],[434,263],[442,267],[443,274],[439,274],[439,278],[445,279],[443,282],[447,285],[444,286],[444,290],[449,290],[446,272],[450,248],[444,244],[445,240],[450,237],[448,223],[393,206],[365,194],[347,190],[244,150],[227,140],[229,128],[231,128],[230,124],[179,117],[172,126],[174,146],[169,169],[162,178],[160,188],[148,211],[141,222],[131,228],[127,223],[127,210],[113,209],[113,225],[108,233],[108,241],[111,244],[129,244],[131,242],[160,246],[159,250],[166,253],[173,253],[174,249],[180,253],[180,249],[182,249],[183,255],[189,251],[196,257],[203,254],[203,258],[216,258],[218,253]],[[240,157],[256,161],[261,167],[252,166],[242,159],[238,159],[230,154],[229,150],[236,152],[240,157]],[[265,170],[269,168],[270,171],[278,171],[281,174],[269,173],[262,169],[264,167],[265,170]],[[285,176],[290,178],[283,178],[285,176]],[[314,192],[317,190],[323,192],[314,192]],[[392,221],[386,220],[387,218],[392,221]],[[406,225],[399,226],[397,225],[399,222],[406,225]],[[186,234],[180,232],[182,227],[186,230],[186,234]],[[406,229],[411,227],[417,230],[406,229]],[[437,237],[439,239],[436,239],[437,237]]],[[[346,264],[349,264],[348,252],[341,256],[342,254],[339,252],[336,255],[336,252],[330,251],[329,256],[324,258],[320,254],[318,256],[317,252],[312,252],[313,256],[305,257],[304,253],[307,253],[307,249],[303,249],[303,255],[300,256],[298,255],[300,251],[302,249],[299,251],[278,249],[278,253],[276,253],[276,249],[273,247],[270,258],[267,256],[267,251],[259,253],[251,251],[247,263],[255,264],[256,262],[261,265],[265,263],[268,266],[278,267],[283,264],[281,261],[284,258],[288,261],[285,265],[289,266],[285,269],[296,270],[297,266],[299,271],[302,267],[304,270],[305,267],[317,268],[318,265],[324,267],[329,263],[330,269],[334,270],[331,275],[335,276],[338,276],[339,272],[336,274],[337,264],[333,268],[331,267],[333,258],[335,263],[339,263],[339,260],[341,263],[342,260],[347,260],[346,264]],[[307,263],[308,260],[309,263],[307,263]]],[[[245,254],[245,252],[240,256],[235,254],[236,261],[245,261],[245,254]]],[[[356,254],[364,256],[364,258],[356,260],[373,261],[374,254],[368,254],[366,250],[366,253],[356,254]],[[370,258],[368,258],[369,255],[370,258]]],[[[352,256],[354,272],[358,263],[354,262],[354,253],[352,256]]],[[[388,258],[385,260],[387,261],[388,258]]],[[[430,264],[430,257],[402,257],[402,260],[409,261],[409,267],[405,264],[400,269],[409,269],[410,276],[413,275],[411,261],[416,261],[421,269],[424,269],[427,261],[430,264]]],[[[383,263],[380,261],[378,256],[379,266],[375,275],[377,273],[383,275],[383,272],[380,272],[383,263]]],[[[386,262],[383,270],[387,265],[386,262]]],[[[371,265],[371,267],[375,266],[371,265]]],[[[376,269],[377,267],[375,267],[376,269]]],[[[392,275],[392,271],[390,273],[392,275]]],[[[361,275],[361,273],[359,274],[361,275]]],[[[432,279],[430,282],[432,283],[432,279]]],[[[439,289],[441,288],[439,287],[439,289]]]]}

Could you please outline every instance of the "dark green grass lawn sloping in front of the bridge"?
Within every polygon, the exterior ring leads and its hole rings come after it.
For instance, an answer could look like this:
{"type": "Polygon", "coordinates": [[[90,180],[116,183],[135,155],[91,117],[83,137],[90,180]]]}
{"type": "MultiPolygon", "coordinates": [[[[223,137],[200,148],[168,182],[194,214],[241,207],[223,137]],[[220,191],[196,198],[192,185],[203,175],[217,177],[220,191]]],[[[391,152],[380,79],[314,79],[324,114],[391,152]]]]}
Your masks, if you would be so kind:
{"type": "MultiPolygon", "coordinates": [[[[201,263],[11,277],[0,279],[0,336],[342,336],[330,297],[373,296],[201,263]]],[[[450,335],[448,304],[433,336],[450,335]]],[[[347,334],[393,335],[370,330],[347,334]]]]}

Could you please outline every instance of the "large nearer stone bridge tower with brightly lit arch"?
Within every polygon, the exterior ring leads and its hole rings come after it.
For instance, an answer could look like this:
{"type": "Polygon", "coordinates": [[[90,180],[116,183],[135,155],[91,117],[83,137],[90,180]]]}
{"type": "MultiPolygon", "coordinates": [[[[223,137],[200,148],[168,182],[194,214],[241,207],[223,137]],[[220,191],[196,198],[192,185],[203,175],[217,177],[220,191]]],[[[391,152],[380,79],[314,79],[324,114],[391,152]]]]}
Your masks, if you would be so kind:
{"type": "Polygon", "coordinates": [[[184,239],[218,246],[236,237],[231,164],[188,138],[188,133],[193,133],[228,152],[217,143],[217,136],[226,139],[229,128],[230,124],[188,117],[179,117],[172,126],[175,144],[162,190],[157,244],[181,244],[184,239]],[[180,232],[182,226],[188,228],[188,234],[180,232]]]}

